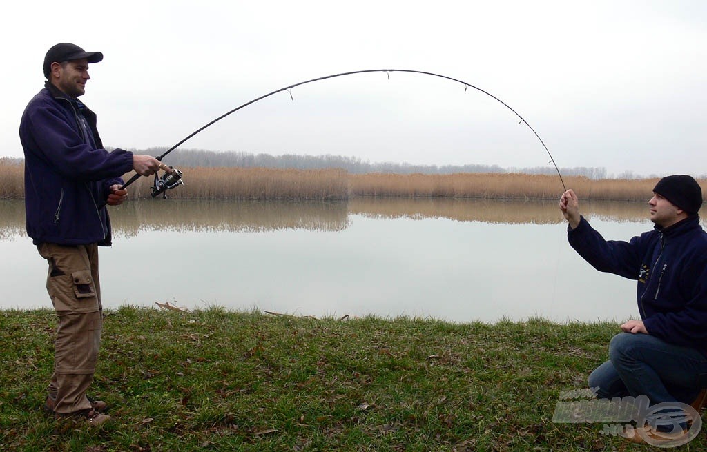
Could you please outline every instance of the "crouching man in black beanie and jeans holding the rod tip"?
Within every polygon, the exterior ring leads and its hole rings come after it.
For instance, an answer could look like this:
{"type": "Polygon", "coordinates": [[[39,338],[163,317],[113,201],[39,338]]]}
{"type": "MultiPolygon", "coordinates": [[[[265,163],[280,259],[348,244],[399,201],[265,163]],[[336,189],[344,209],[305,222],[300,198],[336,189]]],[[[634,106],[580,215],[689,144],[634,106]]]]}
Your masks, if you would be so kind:
{"type": "MultiPolygon", "coordinates": [[[[621,325],[622,333],[609,343],[609,360],[590,374],[589,386],[598,398],[645,396],[650,406],[672,403],[675,408],[666,412],[685,404],[699,415],[707,374],[707,232],[698,215],[702,202],[694,178],[663,177],[648,201],[653,230],[621,242],[604,240],[590,226],[572,190],[562,194],[559,208],[569,223],[573,249],[597,270],[638,280],[641,320],[621,325]]],[[[636,427],[639,434],[632,441],[661,438],[660,428],[636,427]]]]}

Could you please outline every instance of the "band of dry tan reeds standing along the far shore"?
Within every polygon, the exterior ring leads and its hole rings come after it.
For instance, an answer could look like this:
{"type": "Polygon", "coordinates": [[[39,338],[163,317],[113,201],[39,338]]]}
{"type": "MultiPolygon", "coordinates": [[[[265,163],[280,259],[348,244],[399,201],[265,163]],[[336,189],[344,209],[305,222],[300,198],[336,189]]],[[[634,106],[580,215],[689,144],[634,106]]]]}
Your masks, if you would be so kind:
{"type": "MultiPolygon", "coordinates": [[[[183,199],[348,199],[375,197],[445,197],[489,199],[558,199],[557,176],[531,174],[349,174],[342,169],[182,168],[185,185],[168,191],[183,199]]],[[[126,174],[126,179],[131,177],[126,174]]],[[[646,201],[658,179],[566,177],[580,199],[646,201]]],[[[699,181],[707,187],[707,180],[699,181]]],[[[130,187],[131,198],[149,198],[153,177],[130,187]]],[[[0,162],[0,198],[24,196],[23,165],[0,162]]]]}

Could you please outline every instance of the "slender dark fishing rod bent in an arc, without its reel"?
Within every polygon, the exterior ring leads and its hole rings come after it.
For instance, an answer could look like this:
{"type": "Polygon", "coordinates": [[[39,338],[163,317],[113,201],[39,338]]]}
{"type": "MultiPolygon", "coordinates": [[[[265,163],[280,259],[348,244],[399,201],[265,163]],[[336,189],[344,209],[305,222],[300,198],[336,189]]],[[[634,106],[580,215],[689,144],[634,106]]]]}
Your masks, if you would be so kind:
{"type": "MultiPolygon", "coordinates": [[[[533,134],[537,137],[537,139],[540,141],[540,144],[542,144],[542,147],[545,148],[545,152],[547,152],[547,155],[549,155],[549,157],[550,157],[549,163],[552,163],[552,165],[555,167],[555,171],[557,172],[557,175],[558,175],[559,178],[560,178],[560,182],[561,182],[561,184],[562,184],[563,190],[564,190],[564,191],[567,191],[566,186],[565,186],[565,182],[564,182],[563,179],[562,179],[562,174],[560,174],[560,169],[557,167],[557,164],[555,163],[555,159],[554,159],[554,157],[552,157],[552,154],[550,153],[550,150],[547,148],[547,146],[545,145],[544,141],[542,141],[542,138],[540,138],[540,136],[537,134],[537,132],[535,131],[535,129],[533,129],[532,126],[530,126],[530,124],[528,124],[528,122],[527,122],[525,119],[523,119],[523,117],[520,116],[520,114],[518,114],[518,112],[516,112],[513,108],[511,108],[510,105],[506,104],[506,102],[503,102],[503,100],[499,99],[498,97],[494,96],[493,94],[489,93],[488,91],[482,90],[481,88],[479,88],[479,87],[477,87],[477,86],[474,86],[474,85],[472,85],[471,83],[467,83],[467,82],[461,81],[461,80],[459,80],[459,79],[457,79],[457,78],[452,78],[452,77],[449,77],[449,76],[443,76],[443,75],[440,75],[440,74],[438,74],[438,73],[426,72],[426,71],[414,71],[414,70],[411,70],[411,69],[366,69],[366,70],[364,70],[364,71],[342,72],[342,73],[335,73],[335,74],[330,75],[330,76],[323,76],[323,77],[318,77],[318,78],[312,78],[311,80],[308,80],[308,81],[303,81],[303,82],[300,82],[300,83],[295,83],[294,85],[285,86],[284,88],[280,88],[279,90],[274,90],[274,91],[272,91],[271,93],[267,93],[266,95],[262,95],[262,96],[260,96],[260,97],[256,97],[255,99],[250,100],[249,102],[245,102],[245,104],[239,105],[238,107],[235,107],[234,109],[230,110],[230,112],[226,112],[226,113],[222,114],[220,117],[214,119],[213,121],[209,122],[208,124],[204,124],[204,126],[201,126],[201,127],[200,127],[199,129],[197,129],[196,131],[190,133],[188,136],[186,136],[184,139],[182,139],[182,141],[180,141],[179,143],[173,145],[171,148],[169,148],[168,150],[166,150],[165,153],[163,153],[162,155],[160,155],[160,156],[158,156],[158,157],[156,157],[156,158],[157,158],[157,160],[160,160],[160,162],[161,162],[162,159],[165,157],[165,155],[168,155],[170,152],[172,152],[173,150],[175,150],[176,148],[178,148],[180,145],[182,145],[182,143],[185,143],[185,141],[189,140],[189,138],[192,138],[192,136],[196,135],[197,133],[201,132],[202,130],[206,129],[207,127],[209,127],[209,126],[215,124],[216,122],[221,121],[221,119],[227,117],[229,114],[233,114],[233,113],[235,113],[235,112],[238,112],[238,110],[240,110],[240,109],[242,109],[242,108],[245,108],[245,107],[247,107],[248,105],[251,105],[251,104],[253,104],[253,103],[255,103],[255,102],[258,102],[259,100],[263,100],[263,99],[266,98],[266,97],[270,97],[271,95],[274,95],[274,94],[277,94],[277,93],[281,93],[282,91],[287,91],[287,92],[290,94],[290,98],[291,98],[292,100],[295,100],[294,97],[293,97],[293,95],[292,95],[292,88],[296,88],[297,86],[306,85],[306,84],[308,84],[308,83],[314,83],[314,82],[317,82],[317,81],[327,80],[327,78],[351,76],[351,75],[358,74],[358,73],[370,73],[370,72],[385,72],[385,73],[387,74],[387,76],[388,76],[388,80],[390,80],[390,73],[392,73],[392,72],[417,73],[417,74],[423,74],[423,75],[426,75],[426,76],[434,76],[434,77],[439,77],[439,78],[445,78],[445,79],[450,80],[450,81],[455,81],[455,82],[457,82],[457,83],[462,83],[462,85],[464,85],[464,92],[466,92],[467,88],[474,88],[474,90],[477,90],[477,91],[479,91],[479,92],[481,92],[481,93],[484,93],[485,95],[488,95],[488,96],[492,97],[493,99],[497,100],[498,102],[501,102],[501,104],[503,104],[504,107],[508,108],[511,112],[513,112],[513,113],[515,114],[515,116],[517,116],[517,117],[520,119],[520,121],[518,122],[518,124],[520,124],[520,123],[525,123],[525,125],[528,126],[528,129],[530,129],[530,130],[532,131],[532,133],[533,133],[533,134]]],[[[129,186],[130,184],[132,184],[133,182],[135,182],[137,179],[139,179],[139,177],[140,177],[140,174],[135,174],[128,182],[126,182],[126,183],[122,186],[122,189],[124,189],[125,187],[127,187],[127,186],[129,186]]]]}

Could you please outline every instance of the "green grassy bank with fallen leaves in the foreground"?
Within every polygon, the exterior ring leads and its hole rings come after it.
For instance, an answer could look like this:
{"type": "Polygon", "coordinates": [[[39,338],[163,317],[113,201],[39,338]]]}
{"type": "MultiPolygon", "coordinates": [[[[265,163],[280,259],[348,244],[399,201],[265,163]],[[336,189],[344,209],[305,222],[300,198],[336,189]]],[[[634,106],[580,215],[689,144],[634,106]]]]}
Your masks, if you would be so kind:
{"type": "MultiPolygon", "coordinates": [[[[6,451],[612,451],[602,424],[556,424],[614,323],[455,324],[124,307],[105,318],[98,432],[40,407],[52,311],[0,311],[6,451]]],[[[707,445],[704,434],[692,450],[707,445]]],[[[626,450],[633,450],[627,447],[626,450]]]]}

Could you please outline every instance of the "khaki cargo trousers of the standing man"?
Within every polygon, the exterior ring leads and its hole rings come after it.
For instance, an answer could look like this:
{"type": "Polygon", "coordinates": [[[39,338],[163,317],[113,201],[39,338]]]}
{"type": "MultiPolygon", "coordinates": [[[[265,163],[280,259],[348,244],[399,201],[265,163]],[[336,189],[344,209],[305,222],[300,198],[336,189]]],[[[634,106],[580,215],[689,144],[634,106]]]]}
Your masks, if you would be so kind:
{"type": "Polygon", "coordinates": [[[49,263],[47,292],[58,318],[49,397],[57,414],[90,409],[86,391],[93,382],[103,323],[98,245],[45,243],[37,250],[49,263]]]}

